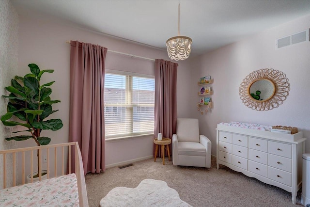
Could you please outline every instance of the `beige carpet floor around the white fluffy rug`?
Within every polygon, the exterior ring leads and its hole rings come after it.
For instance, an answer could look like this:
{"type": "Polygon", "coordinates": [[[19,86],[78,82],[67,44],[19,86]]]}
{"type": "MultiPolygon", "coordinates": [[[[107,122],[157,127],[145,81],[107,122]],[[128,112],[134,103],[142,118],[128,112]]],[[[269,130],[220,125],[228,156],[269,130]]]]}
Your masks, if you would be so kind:
{"type": "Polygon", "coordinates": [[[136,188],[143,179],[167,182],[180,198],[193,207],[302,207],[300,192],[297,205],[292,195],[278,187],[260,182],[220,165],[212,158],[211,168],[174,166],[166,158],[146,159],[134,166],[108,168],[105,173],[87,174],[85,177],[90,207],[99,207],[100,200],[110,190],[123,186],[136,188]]]}

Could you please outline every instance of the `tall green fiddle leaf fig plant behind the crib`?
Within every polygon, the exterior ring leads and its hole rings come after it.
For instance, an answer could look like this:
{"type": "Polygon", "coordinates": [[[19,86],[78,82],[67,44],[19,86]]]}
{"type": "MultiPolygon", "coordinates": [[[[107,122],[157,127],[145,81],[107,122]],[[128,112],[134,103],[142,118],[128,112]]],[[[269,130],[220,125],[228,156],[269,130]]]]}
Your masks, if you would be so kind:
{"type": "MultiPolygon", "coordinates": [[[[10,92],[9,96],[3,96],[9,99],[7,113],[1,116],[3,125],[8,127],[22,126],[25,130],[15,131],[13,133],[23,132],[25,135],[18,135],[5,138],[7,141],[24,141],[33,139],[40,145],[47,145],[51,139],[42,136],[43,130],[56,131],[62,128],[61,119],[48,119],[48,116],[58,110],[52,110],[52,104],[61,102],[60,100],[51,100],[52,89],[48,86],[55,81],[40,84],[41,77],[44,73],[53,73],[54,70],[40,70],[38,65],[29,64],[31,73],[24,77],[16,76],[11,80],[11,86],[5,87],[10,92]],[[9,121],[13,116],[17,119],[9,121]],[[16,121],[17,120],[17,121],[16,121]],[[27,134],[27,135],[26,135],[27,134]]],[[[38,169],[40,166],[38,152],[38,169]]],[[[39,172],[38,172],[39,174],[39,172]]],[[[39,175],[34,177],[38,177],[39,175]]]]}

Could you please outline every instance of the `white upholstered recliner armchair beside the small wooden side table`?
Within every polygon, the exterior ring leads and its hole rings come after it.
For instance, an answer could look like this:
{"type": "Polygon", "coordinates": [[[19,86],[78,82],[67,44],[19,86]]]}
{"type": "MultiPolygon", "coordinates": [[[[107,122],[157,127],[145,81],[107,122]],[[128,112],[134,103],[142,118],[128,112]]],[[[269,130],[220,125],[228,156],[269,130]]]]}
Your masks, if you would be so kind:
{"type": "Polygon", "coordinates": [[[173,165],[211,167],[211,142],[199,135],[198,119],[178,118],[172,135],[173,165]]]}

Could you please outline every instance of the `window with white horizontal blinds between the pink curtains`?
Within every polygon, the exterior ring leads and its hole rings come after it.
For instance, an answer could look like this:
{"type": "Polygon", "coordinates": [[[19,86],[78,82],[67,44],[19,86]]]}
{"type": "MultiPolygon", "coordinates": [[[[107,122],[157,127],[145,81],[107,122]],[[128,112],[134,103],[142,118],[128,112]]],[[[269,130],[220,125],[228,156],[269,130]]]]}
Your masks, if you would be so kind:
{"type": "Polygon", "coordinates": [[[154,103],[154,78],[106,73],[106,139],[154,133],[154,103]]]}

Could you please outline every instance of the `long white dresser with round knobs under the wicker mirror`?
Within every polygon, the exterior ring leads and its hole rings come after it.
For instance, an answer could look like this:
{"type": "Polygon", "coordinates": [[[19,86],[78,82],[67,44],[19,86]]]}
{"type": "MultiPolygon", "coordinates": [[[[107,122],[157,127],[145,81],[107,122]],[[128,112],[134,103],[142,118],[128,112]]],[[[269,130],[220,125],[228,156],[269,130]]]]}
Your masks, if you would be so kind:
{"type": "Polygon", "coordinates": [[[219,164],[249,177],[292,192],[296,204],[302,182],[302,132],[283,134],[217,125],[217,169],[219,164]]]}

